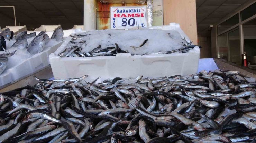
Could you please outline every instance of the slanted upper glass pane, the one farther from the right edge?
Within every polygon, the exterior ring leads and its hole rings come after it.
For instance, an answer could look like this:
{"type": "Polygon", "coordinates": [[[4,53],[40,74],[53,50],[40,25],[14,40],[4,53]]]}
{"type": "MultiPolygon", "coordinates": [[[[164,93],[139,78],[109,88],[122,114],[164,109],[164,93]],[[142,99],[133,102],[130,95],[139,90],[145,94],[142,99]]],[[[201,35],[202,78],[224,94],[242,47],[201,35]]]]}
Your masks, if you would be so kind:
{"type": "Polygon", "coordinates": [[[232,26],[236,25],[239,23],[239,15],[238,13],[234,15],[233,17],[229,18],[228,20],[222,22],[220,25],[218,25],[218,33],[225,31],[232,26]]]}

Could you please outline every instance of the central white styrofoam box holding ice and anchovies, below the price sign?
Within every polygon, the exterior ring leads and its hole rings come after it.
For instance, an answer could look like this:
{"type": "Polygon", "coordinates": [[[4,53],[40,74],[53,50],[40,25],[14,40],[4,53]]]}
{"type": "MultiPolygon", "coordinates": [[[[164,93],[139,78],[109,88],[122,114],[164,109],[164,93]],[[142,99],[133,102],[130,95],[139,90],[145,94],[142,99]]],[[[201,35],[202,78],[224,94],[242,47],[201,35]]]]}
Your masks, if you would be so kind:
{"type": "MultiPolygon", "coordinates": [[[[189,40],[188,36],[180,29],[179,24],[170,23],[167,26],[156,26],[150,29],[176,30],[182,37],[189,40]]],[[[73,33],[82,32],[79,29],[73,33]]],[[[60,57],[71,37],[67,38],[59,49],[49,56],[55,79],[77,78],[89,75],[86,80],[92,81],[98,77],[103,81],[113,77],[164,77],[171,75],[195,74],[198,69],[200,49],[195,47],[188,53],[134,55],[130,53],[117,54],[116,56],[99,57],[60,57]]],[[[99,81],[98,80],[98,81],[99,81]]]]}

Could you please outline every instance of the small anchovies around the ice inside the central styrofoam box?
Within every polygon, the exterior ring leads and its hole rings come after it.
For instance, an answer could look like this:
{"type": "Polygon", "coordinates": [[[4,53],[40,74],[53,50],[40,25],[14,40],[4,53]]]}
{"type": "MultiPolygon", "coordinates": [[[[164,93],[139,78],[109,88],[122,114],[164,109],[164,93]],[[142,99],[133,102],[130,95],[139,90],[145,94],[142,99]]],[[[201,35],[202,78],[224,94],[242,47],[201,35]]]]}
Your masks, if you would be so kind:
{"type": "MultiPolygon", "coordinates": [[[[90,36],[88,34],[86,35],[81,35],[81,34],[74,34],[74,36],[71,36],[72,39],[71,41],[67,44],[65,50],[61,53],[58,54],[58,56],[61,57],[95,57],[95,56],[116,56],[118,53],[129,53],[128,50],[121,50],[121,48],[118,46],[117,43],[115,43],[115,47],[106,47],[106,48],[101,48],[101,45],[99,45],[97,48],[94,48],[91,51],[86,51],[83,50],[84,45],[86,45],[86,41],[80,40],[83,37],[90,36]],[[71,46],[72,45],[72,46],[71,46]]],[[[147,54],[171,54],[171,53],[186,53],[189,50],[193,49],[197,45],[191,45],[191,42],[186,41],[185,37],[182,39],[184,41],[184,47],[176,49],[176,50],[171,50],[171,51],[166,51],[166,52],[157,52],[157,53],[145,53],[143,55],[147,54]]],[[[131,46],[134,50],[136,48],[141,48],[147,43],[148,39],[144,40],[141,45],[138,47],[131,46]]],[[[198,46],[199,48],[202,48],[201,46],[198,46]]],[[[136,55],[136,54],[131,54],[131,55],[136,55]]]]}

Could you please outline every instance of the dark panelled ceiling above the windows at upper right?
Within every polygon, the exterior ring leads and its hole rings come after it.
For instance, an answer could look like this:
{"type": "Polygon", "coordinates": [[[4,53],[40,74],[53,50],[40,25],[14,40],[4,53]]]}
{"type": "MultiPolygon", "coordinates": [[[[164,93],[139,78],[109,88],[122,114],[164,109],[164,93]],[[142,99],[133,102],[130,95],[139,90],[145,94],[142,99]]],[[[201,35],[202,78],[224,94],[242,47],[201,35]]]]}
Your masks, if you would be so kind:
{"type": "Polygon", "coordinates": [[[211,36],[210,25],[219,23],[255,0],[196,0],[198,36],[211,36]]]}

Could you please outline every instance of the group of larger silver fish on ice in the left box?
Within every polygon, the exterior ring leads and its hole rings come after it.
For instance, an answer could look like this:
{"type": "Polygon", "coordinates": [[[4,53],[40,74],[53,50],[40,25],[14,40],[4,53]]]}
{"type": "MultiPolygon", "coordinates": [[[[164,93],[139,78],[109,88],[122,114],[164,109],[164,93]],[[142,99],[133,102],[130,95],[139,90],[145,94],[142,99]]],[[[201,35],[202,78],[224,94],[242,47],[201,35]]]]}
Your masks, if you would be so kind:
{"type": "MultiPolygon", "coordinates": [[[[55,39],[56,41],[63,40],[63,30],[61,27],[57,28],[53,32],[51,39],[55,39]]],[[[7,54],[0,55],[0,74],[4,71],[4,69],[6,69],[6,66],[8,65],[8,57],[13,55],[14,53],[8,52],[10,49],[12,49],[10,51],[25,50],[25,53],[30,53],[29,55],[34,55],[42,52],[45,44],[49,42],[49,40],[50,38],[45,33],[45,31],[41,31],[37,36],[36,32],[27,34],[27,31],[22,31],[17,35],[13,36],[13,31],[10,31],[9,28],[3,30],[0,33],[0,51],[5,51],[7,52],[7,54]],[[32,38],[34,39],[32,40],[32,38]],[[28,43],[29,40],[27,39],[31,39],[32,41],[30,40],[31,42],[28,43]],[[11,47],[7,47],[8,43],[6,42],[8,41],[9,43],[12,43],[13,40],[15,41],[15,43],[13,43],[11,47]]]]}

